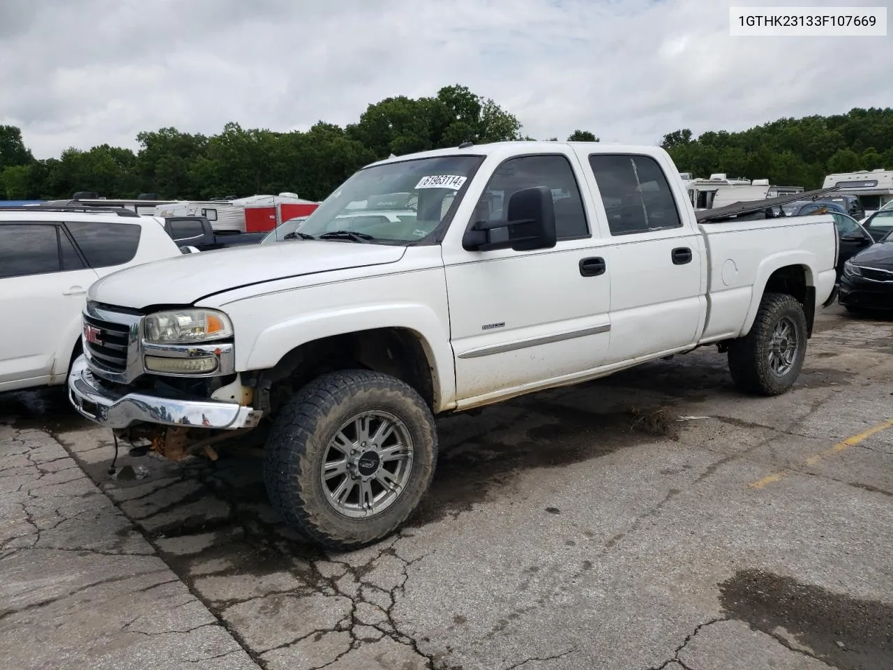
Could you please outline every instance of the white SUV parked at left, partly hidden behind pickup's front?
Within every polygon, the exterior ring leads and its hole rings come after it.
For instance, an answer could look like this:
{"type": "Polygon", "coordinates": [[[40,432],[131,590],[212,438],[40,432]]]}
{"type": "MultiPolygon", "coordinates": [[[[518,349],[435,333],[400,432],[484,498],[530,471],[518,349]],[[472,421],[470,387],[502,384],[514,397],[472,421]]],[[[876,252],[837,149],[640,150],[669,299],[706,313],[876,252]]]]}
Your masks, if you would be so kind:
{"type": "Polygon", "coordinates": [[[154,218],[129,210],[0,207],[0,392],[63,384],[90,284],[180,254],[154,218]]]}

